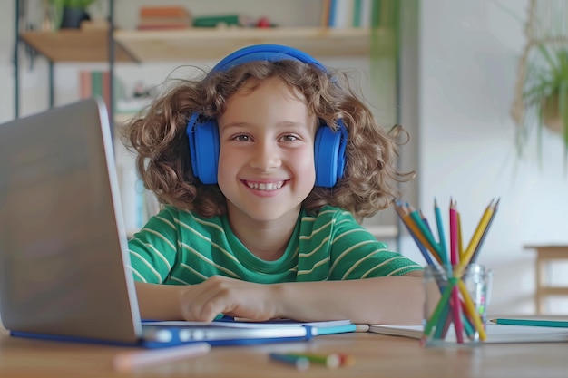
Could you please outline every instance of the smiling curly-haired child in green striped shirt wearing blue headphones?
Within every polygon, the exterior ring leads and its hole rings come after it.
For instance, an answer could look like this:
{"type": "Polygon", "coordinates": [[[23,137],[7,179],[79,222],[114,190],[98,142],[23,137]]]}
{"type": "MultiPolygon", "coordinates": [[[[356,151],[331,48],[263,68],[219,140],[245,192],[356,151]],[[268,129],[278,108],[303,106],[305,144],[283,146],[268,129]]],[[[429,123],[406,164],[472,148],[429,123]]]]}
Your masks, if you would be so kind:
{"type": "Polygon", "coordinates": [[[357,223],[409,175],[344,74],[250,46],[125,135],[165,205],[129,242],[142,318],[420,323],[421,267],[357,223]]]}

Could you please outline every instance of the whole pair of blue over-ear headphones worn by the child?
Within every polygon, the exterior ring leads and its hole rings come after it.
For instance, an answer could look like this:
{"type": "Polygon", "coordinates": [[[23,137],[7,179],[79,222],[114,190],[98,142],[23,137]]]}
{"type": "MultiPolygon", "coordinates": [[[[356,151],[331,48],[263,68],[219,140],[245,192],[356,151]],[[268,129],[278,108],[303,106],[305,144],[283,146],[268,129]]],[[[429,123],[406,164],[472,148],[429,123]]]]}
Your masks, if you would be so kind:
{"type": "MultiPolygon", "coordinates": [[[[279,44],[257,44],[230,53],[213,67],[211,73],[228,71],[243,63],[282,60],[310,63],[322,71],[328,71],[323,64],[307,53],[294,48],[279,44]]],[[[332,188],[338,179],[343,177],[348,131],[341,119],[338,119],[337,123],[338,131],[333,131],[325,123],[322,123],[316,131],[314,156],[317,187],[332,188]]],[[[200,113],[192,113],[186,132],[190,141],[193,175],[203,184],[216,184],[220,149],[217,121],[206,119],[200,113]]]]}

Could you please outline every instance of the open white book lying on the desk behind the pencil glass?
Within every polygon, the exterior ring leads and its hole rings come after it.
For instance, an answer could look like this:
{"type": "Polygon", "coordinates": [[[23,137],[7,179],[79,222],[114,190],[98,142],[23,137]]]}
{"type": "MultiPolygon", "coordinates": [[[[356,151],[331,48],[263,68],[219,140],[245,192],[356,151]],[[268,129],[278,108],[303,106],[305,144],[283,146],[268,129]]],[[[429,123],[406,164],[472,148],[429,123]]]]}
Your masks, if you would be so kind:
{"type": "MultiPolygon", "coordinates": [[[[414,339],[422,337],[422,325],[369,325],[368,332],[404,336],[414,339]]],[[[553,328],[528,325],[486,325],[487,338],[485,344],[505,343],[551,343],[568,342],[567,328],[553,328]]],[[[447,331],[446,340],[455,341],[453,328],[447,331]]]]}

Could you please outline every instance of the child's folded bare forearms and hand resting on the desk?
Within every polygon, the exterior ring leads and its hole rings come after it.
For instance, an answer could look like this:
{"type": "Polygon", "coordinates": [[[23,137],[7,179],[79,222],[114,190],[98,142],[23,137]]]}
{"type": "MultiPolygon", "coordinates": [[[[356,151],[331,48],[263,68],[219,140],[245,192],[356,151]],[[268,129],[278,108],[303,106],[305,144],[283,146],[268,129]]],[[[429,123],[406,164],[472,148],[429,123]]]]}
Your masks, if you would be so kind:
{"type": "Polygon", "coordinates": [[[136,283],[136,290],[142,318],[211,321],[224,314],[258,321],[282,317],[407,325],[422,320],[421,275],[272,285],[212,276],[194,286],[136,283]]]}

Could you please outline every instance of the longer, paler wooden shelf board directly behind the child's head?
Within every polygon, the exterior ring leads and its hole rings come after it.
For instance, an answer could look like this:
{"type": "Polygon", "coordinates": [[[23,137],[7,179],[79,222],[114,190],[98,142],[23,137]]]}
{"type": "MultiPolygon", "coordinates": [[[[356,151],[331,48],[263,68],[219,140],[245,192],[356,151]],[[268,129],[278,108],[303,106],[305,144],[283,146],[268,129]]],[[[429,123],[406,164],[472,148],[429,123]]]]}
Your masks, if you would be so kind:
{"type": "Polygon", "coordinates": [[[215,60],[250,44],[286,44],[317,58],[368,56],[370,37],[370,29],[321,27],[117,30],[114,33],[116,42],[139,62],[215,60]]]}

